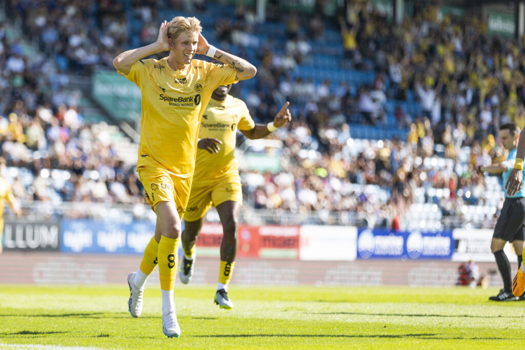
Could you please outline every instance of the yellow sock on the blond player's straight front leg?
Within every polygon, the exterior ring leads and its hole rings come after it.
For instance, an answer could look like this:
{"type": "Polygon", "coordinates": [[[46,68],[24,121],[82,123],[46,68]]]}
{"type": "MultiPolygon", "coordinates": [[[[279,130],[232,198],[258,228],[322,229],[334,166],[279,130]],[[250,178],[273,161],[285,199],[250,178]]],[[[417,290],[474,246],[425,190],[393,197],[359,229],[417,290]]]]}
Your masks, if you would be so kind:
{"type": "Polygon", "coordinates": [[[175,275],[177,273],[177,249],[179,238],[162,236],[159,242],[159,276],[161,289],[172,291],[175,288],[175,275]]]}

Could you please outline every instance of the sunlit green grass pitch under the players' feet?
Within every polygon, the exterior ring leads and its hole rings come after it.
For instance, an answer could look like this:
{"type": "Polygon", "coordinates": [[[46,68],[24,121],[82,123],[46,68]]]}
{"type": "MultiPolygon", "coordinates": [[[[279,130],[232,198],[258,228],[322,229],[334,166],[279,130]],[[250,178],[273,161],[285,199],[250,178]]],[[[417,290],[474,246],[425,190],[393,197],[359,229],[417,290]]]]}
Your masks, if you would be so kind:
{"type": "Polygon", "coordinates": [[[523,348],[525,302],[496,288],[238,287],[231,311],[213,285],[175,288],[180,338],[161,330],[161,295],[146,288],[139,319],[128,286],[0,284],[0,348],[523,348]],[[27,344],[19,346],[15,344],[27,344]]]}

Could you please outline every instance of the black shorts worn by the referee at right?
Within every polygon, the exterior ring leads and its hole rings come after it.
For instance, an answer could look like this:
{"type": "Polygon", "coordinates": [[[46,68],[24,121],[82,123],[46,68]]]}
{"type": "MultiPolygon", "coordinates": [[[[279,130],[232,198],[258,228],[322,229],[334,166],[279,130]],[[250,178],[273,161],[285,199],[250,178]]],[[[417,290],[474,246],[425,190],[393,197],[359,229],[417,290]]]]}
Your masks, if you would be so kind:
{"type": "Polygon", "coordinates": [[[525,240],[525,197],[505,198],[493,238],[525,240]]]}

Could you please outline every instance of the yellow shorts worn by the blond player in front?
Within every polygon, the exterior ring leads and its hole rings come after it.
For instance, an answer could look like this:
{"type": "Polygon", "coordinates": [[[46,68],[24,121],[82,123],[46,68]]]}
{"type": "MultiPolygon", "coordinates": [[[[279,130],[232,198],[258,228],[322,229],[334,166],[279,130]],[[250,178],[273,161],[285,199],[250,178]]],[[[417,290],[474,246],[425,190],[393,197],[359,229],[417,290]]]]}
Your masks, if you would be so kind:
{"type": "Polygon", "coordinates": [[[137,169],[139,179],[144,186],[146,201],[155,211],[161,201],[171,201],[177,207],[182,220],[192,187],[192,177],[182,178],[168,172],[163,167],[141,165],[137,169]]]}

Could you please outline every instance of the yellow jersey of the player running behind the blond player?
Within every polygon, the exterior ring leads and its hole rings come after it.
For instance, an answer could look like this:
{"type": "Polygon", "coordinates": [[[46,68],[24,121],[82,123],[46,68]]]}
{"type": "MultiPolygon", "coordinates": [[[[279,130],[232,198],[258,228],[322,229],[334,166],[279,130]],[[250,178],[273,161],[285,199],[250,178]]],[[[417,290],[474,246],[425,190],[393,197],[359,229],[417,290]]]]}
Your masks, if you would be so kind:
{"type": "Polygon", "coordinates": [[[211,99],[204,111],[198,137],[199,139],[211,137],[220,140],[223,144],[220,145],[219,152],[214,154],[206,150],[197,150],[193,182],[238,172],[237,160],[234,156],[236,131],[253,128],[255,122],[242,100],[230,95],[226,95],[224,101],[211,99]]]}

